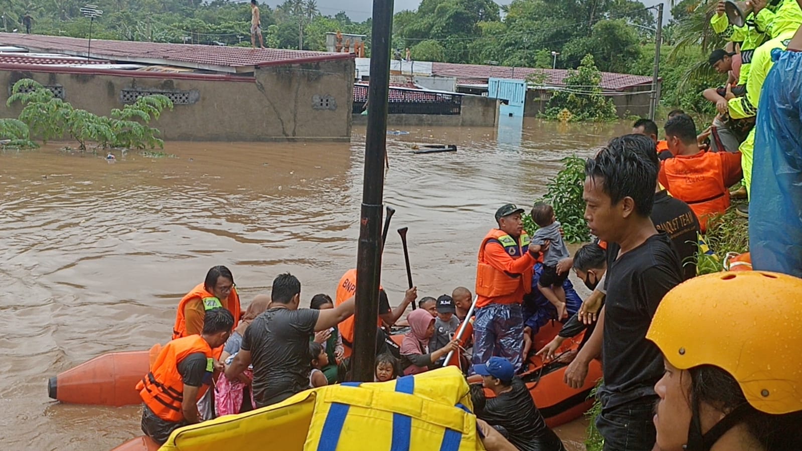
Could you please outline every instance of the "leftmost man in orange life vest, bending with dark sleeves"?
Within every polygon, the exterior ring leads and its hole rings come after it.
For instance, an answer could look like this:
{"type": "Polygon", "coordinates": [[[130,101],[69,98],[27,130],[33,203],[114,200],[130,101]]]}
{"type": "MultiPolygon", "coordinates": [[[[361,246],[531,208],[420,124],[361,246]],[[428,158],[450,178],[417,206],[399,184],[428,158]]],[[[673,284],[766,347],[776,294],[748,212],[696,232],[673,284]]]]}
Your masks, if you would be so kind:
{"type": "Polygon", "coordinates": [[[234,317],[225,308],[206,312],[201,335],[188,335],[167,343],[151,371],[136,389],[144,401],[142,432],[164,444],[173,430],[201,421],[197,401],[223,365],[212,349],[229,339],[234,317]]]}

